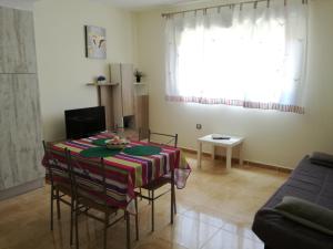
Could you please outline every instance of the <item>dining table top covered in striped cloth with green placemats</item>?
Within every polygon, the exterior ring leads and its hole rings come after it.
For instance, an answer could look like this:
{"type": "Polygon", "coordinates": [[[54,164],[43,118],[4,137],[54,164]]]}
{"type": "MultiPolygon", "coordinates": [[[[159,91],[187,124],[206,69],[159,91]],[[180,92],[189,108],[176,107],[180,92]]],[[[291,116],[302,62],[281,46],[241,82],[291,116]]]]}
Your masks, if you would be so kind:
{"type": "MultiPolygon", "coordinates": [[[[174,185],[172,187],[178,189],[185,187],[191,167],[180,148],[133,139],[129,141],[124,149],[113,152],[110,149],[109,152],[108,148],[103,148],[104,145],[101,142],[112,139],[117,134],[114,133],[102,132],[80,139],[52,143],[51,147],[53,151],[60,152],[56,156],[57,160],[60,162],[59,165],[63,165],[63,170],[67,170],[65,154],[63,153],[65,149],[72,155],[87,157],[87,159],[102,157],[105,166],[108,204],[132,214],[135,212],[134,199],[137,188],[167,175],[173,176],[174,185]],[[135,153],[138,148],[139,151],[140,148],[141,151],[143,148],[149,149],[145,154],[138,154],[135,153]],[[94,151],[100,151],[100,154],[98,152],[93,153],[94,151]]],[[[47,165],[47,159],[46,157],[43,158],[43,165],[47,165]]],[[[95,174],[89,175],[91,180],[98,177],[95,174]]]]}

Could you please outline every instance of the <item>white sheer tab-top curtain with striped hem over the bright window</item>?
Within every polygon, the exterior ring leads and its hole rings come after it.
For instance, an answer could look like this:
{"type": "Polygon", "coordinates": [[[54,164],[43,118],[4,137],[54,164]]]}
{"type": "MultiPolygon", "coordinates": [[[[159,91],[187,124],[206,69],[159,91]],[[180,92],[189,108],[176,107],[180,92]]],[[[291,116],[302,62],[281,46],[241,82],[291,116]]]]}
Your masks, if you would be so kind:
{"type": "Polygon", "coordinates": [[[167,100],[304,113],[307,4],[274,0],[167,18],[167,100]]]}

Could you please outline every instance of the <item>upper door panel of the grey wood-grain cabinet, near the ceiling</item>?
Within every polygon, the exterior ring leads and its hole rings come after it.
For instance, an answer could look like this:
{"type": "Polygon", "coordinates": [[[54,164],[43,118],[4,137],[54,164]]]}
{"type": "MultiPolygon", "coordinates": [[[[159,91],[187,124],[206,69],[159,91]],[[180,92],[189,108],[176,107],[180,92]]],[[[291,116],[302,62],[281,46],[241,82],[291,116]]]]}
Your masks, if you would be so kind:
{"type": "Polygon", "coordinates": [[[0,7],[0,73],[37,73],[32,12],[0,7]]]}

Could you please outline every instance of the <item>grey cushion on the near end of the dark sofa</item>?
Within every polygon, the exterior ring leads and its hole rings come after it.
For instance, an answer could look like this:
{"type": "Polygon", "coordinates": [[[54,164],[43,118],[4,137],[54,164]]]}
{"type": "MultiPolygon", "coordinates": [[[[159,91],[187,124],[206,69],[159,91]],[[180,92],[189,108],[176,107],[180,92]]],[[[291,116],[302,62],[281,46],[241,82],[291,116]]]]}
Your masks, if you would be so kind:
{"type": "Polygon", "coordinates": [[[275,209],[291,220],[333,236],[333,210],[292,196],[283,197],[275,209]]]}

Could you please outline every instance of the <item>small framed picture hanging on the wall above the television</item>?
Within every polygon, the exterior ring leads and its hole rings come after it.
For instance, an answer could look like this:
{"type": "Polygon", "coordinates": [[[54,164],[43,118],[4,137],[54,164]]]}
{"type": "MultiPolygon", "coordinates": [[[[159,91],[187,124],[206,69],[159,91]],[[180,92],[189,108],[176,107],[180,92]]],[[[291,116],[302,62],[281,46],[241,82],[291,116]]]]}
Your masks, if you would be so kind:
{"type": "Polygon", "coordinates": [[[85,56],[107,59],[107,31],[104,28],[85,25],[85,56]]]}

